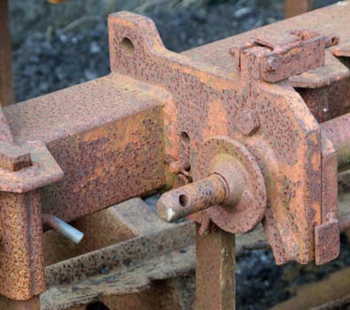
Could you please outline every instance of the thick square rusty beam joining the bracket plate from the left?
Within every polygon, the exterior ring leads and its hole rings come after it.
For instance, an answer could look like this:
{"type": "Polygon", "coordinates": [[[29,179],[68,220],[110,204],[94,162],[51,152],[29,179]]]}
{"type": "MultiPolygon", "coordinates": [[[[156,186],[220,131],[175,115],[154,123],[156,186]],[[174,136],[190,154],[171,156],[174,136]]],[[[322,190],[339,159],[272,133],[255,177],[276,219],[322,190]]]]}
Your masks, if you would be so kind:
{"type": "Polygon", "coordinates": [[[65,174],[43,188],[43,213],[73,221],[161,188],[168,100],[162,89],[111,74],[6,107],[16,140],[46,143],[65,174]]]}

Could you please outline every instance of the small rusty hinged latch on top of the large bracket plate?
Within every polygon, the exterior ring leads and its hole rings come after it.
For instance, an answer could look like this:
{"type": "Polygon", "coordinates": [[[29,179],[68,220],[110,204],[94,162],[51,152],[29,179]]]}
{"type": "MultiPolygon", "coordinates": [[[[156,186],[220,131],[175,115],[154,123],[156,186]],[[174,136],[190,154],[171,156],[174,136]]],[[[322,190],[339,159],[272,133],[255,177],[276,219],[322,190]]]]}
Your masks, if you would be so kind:
{"type": "Polygon", "coordinates": [[[302,29],[284,34],[261,33],[229,52],[237,70],[241,71],[242,54],[255,47],[266,48],[259,55],[261,79],[276,82],[324,66],[325,49],[338,42],[338,35],[319,35],[302,29]]]}

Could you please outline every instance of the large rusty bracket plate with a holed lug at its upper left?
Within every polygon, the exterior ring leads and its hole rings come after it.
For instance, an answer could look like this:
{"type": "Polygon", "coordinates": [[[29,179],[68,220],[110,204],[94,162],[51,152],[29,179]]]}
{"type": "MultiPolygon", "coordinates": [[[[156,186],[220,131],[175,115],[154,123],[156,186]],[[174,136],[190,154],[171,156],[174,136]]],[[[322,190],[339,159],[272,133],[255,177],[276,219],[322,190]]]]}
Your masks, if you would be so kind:
{"type": "MultiPolygon", "coordinates": [[[[193,156],[205,137],[222,135],[244,142],[265,178],[274,181],[267,183],[270,207],[265,227],[277,263],[313,260],[314,233],[309,228],[320,222],[320,129],[290,87],[266,84],[252,75],[259,73],[260,64],[255,66],[254,59],[264,48],[255,47],[246,54],[241,61],[245,68],[241,74],[246,78],[239,79],[235,70],[226,74],[221,62],[211,65],[216,58],[225,59],[226,68],[229,61],[233,63],[227,59],[228,44],[219,49],[211,44],[208,54],[215,51],[216,57],[203,63],[165,50],[150,19],[124,12],[113,14],[109,25],[112,70],[163,85],[173,94],[174,102],[164,110],[167,159],[178,160],[184,154],[182,132],[190,138],[193,156]],[[132,53],[122,44],[126,37],[133,43],[132,53]],[[256,102],[256,97],[261,101],[256,102]],[[277,100],[278,109],[274,107],[277,100]],[[251,139],[245,139],[235,126],[235,118],[245,109],[259,111],[261,127],[251,139]],[[287,213],[282,211],[284,205],[287,213]]],[[[197,50],[196,55],[203,51],[197,50]]]]}

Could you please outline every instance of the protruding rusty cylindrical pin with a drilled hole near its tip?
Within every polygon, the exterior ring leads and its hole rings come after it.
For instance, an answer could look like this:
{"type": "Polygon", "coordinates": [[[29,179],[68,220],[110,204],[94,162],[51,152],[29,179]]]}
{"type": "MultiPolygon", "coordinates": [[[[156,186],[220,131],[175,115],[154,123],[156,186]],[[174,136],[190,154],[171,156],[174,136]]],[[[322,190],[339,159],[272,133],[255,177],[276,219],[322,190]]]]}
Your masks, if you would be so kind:
{"type": "Polygon", "coordinates": [[[229,189],[222,176],[210,174],[205,179],[170,190],[159,198],[157,211],[166,221],[175,221],[229,198],[229,189]]]}

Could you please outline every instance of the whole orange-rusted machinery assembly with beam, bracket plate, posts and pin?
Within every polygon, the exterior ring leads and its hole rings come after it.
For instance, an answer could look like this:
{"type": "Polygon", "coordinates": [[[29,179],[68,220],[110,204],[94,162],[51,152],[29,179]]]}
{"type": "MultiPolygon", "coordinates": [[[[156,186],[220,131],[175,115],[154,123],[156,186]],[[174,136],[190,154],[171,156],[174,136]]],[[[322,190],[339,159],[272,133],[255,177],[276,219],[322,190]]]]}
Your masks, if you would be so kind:
{"type": "MultiPolygon", "coordinates": [[[[233,234],[261,221],[277,264],[337,258],[349,226],[337,174],[350,160],[350,4],[181,54],[151,19],[119,12],[108,25],[112,74],[0,110],[6,305],[39,307],[43,222],[155,191],[166,221],[198,223],[197,309],[235,307],[233,234]]],[[[83,273],[71,264],[60,267],[83,273]]]]}

